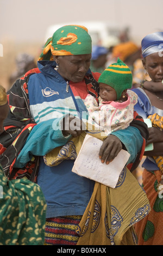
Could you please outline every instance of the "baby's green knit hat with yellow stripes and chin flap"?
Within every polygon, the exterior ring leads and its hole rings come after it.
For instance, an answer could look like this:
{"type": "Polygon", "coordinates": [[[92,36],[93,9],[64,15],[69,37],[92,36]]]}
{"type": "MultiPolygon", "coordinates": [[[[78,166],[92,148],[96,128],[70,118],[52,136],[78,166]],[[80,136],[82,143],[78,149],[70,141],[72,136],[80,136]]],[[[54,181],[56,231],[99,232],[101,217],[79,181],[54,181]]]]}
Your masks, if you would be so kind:
{"type": "Polygon", "coordinates": [[[130,89],[133,76],[129,67],[120,58],[106,68],[98,79],[98,83],[105,83],[116,90],[117,100],[120,100],[123,90],[130,89]]]}

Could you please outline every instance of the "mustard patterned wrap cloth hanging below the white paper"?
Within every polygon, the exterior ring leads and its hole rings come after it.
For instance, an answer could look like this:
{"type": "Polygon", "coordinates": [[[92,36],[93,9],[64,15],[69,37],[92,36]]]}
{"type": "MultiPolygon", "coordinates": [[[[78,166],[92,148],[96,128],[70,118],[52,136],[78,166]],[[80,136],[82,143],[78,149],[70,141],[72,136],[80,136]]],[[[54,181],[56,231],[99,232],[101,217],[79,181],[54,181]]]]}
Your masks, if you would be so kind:
{"type": "Polygon", "coordinates": [[[77,229],[77,245],[136,245],[133,225],[150,210],[145,192],[125,167],[115,188],[95,183],[77,229]]]}

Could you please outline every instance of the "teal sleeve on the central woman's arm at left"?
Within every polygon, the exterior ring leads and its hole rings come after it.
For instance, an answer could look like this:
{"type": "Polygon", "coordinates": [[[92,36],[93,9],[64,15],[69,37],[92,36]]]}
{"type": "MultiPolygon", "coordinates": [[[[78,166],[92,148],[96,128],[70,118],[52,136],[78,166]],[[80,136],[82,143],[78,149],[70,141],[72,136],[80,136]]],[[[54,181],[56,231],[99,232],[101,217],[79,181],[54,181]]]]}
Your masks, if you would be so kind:
{"type": "Polygon", "coordinates": [[[14,167],[22,168],[33,155],[44,156],[52,149],[64,145],[71,136],[64,137],[61,131],[61,119],[43,121],[33,127],[26,144],[18,155],[14,167]]]}

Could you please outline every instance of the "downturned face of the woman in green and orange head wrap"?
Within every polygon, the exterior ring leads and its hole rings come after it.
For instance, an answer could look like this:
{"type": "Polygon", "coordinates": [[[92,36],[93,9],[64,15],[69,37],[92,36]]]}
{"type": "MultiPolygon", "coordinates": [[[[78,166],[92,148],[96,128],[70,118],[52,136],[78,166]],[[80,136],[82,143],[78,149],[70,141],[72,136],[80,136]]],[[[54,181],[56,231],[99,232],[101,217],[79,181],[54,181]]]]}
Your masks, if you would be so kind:
{"type": "Polygon", "coordinates": [[[91,54],[55,56],[58,72],[65,80],[80,82],[90,68],[91,54]]]}

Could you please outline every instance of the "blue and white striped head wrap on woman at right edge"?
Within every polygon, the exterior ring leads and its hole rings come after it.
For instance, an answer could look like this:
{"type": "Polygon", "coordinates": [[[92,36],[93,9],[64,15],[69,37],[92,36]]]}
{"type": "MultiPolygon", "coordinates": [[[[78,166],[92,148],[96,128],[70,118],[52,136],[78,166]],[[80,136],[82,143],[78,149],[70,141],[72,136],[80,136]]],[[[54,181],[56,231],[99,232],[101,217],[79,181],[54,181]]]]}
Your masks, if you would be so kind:
{"type": "Polygon", "coordinates": [[[145,38],[141,41],[142,56],[146,56],[162,51],[163,47],[163,32],[155,32],[149,35],[146,35],[145,38]]]}

